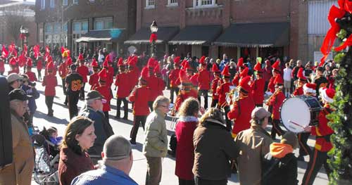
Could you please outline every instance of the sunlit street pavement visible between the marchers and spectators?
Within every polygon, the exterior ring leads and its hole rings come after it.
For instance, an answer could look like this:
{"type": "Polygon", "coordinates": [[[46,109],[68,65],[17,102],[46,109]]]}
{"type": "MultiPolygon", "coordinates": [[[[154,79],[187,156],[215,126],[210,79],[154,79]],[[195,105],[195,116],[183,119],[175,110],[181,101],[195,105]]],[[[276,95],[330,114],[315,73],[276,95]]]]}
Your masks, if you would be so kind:
{"type": "MultiPolygon", "coordinates": [[[[22,70],[23,69],[21,69],[21,72],[23,72],[22,70]]],[[[8,65],[6,65],[6,74],[7,74],[7,71],[8,71],[8,65]]],[[[37,70],[33,69],[33,71],[37,71],[37,70]]],[[[43,73],[42,75],[44,75],[44,70],[42,70],[42,73],[43,73]]],[[[46,116],[47,109],[44,101],[44,98],[45,98],[44,88],[42,87],[42,84],[40,82],[37,82],[37,89],[39,90],[41,96],[37,99],[38,108],[37,108],[37,113],[35,113],[34,115],[33,123],[35,126],[39,127],[39,129],[42,129],[44,126],[45,127],[54,126],[58,129],[59,136],[62,136],[63,133],[65,132],[65,127],[68,124],[69,115],[68,115],[68,108],[63,104],[63,101],[65,100],[65,96],[63,96],[60,77],[58,77],[58,84],[59,84],[59,87],[56,87],[56,97],[54,98],[54,107],[53,107],[54,117],[48,117],[46,116]]],[[[89,90],[89,85],[85,87],[85,90],[86,91],[89,90]]],[[[115,91],[113,91],[113,93],[115,96],[115,91]]],[[[164,94],[165,96],[169,97],[168,90],[165,90],[164,94]]],[[[125,138],[129,139],[130,130],[132,128],[131,109],[129,109],[128,121],[115,120],[115,117],[114,117],[116,114],[115,98],[113,98],[113,100],[111,101],[111,105],[112,105],[111,106],[112,110],[110,111],[110,122],[111,122],[111,126],[113,127],[113,131],[115,132],[115,134],[120,134],[122,136],[125,136],[125,138]]],[[[82,108],[84,106],[84,101],[80,101],[78,103],[78,106],[79,108],[82,108]]],[[[131,104],[129,105],[129,108],[131,108],[131,104]]],[[[173,130],[171,128],[172,122],[170,122],[169,120],[166,122],[166,124],[168,128],[168,136],[170,139],[170,134],[173,133],[173,130]]],[[[143,129],[141,127],[137,135],[137,145],[133,147],[134,163],[133,163],[132,171],[130,173],[130,177],[132,177],[132,179],[137,181],[138,184],[145,183],[145,175],[146,175],[146,158],[142,154],[143,138],[144,138],[144,134],[143,134],[143,129]]],[[[312,138],[310,138],[309,145],[313,146],[313,143],[314,141],[312,140],[312,138]]],[[[298,150],[296,150],[295,153],[298,153],[298,150]]],[[[308,161],[308,158],[306,158],[306,161],[308,161]]],[[[298,180],[299,181],[301,181],[301,179],[303,178],[303,174],[306,169],[306,164],[307,162],[298,162],[298,180]]],[[[35,184],[35,182],[33,181],[32,184],[35,184]]],[[[175,176],[175,158],[168,156],[167,158],[163,159],[163,177],[161,180],[161,184],[167,184],[167,185],[178,184],[178,179],[175,176]]],[[[237,175],[232,174],[232,177],[229,179],[228,184],[239,184],[237,175]]],[[[315,179],[315,184],[319,184],[319,185],[328,184],[327,175],[325,174],[324,170],[321,170],[320,173],[318,174],[318,177],[315,179]]]]}

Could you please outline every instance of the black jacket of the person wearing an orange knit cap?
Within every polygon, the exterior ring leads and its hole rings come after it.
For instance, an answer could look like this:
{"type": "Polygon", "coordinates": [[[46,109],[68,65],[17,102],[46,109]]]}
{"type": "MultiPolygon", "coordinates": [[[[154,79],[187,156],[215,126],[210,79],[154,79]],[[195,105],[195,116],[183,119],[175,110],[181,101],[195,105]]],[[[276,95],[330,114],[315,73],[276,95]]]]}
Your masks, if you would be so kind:
{"type": "Polygon", "coordinates": [[[284,158],[274,158],[270,153],[262,161],[262,185],[296,185],[297,158],[289,153],[284,158]]]}

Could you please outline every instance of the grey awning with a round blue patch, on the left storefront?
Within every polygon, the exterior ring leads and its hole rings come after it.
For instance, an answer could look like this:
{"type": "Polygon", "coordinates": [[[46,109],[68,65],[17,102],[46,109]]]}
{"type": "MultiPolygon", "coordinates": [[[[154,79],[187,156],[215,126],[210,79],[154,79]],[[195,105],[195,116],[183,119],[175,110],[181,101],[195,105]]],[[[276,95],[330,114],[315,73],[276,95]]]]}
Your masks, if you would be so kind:
{"type": "Polygon", "coordinates": [[[125,29],[110,29],[110,30],[91,30],[76,42],[114,42],[121,38],[125,29]]]}

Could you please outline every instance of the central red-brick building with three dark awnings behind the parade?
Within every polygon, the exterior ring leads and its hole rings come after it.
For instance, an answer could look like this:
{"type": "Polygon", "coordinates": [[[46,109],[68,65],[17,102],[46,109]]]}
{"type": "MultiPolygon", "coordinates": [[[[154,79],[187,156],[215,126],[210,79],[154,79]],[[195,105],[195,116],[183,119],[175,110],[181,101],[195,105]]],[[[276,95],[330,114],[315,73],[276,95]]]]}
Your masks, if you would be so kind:
{"type": "Polygon", "coordinates": [[[227,53],[231,58],[277,53],[305,60],[308,56],[307,1],[137,1],[137,32],[126,47],[149,51],[148,27],[153,20],[160,30],[159,56],[188,52],[212,57],[227,53]]]}

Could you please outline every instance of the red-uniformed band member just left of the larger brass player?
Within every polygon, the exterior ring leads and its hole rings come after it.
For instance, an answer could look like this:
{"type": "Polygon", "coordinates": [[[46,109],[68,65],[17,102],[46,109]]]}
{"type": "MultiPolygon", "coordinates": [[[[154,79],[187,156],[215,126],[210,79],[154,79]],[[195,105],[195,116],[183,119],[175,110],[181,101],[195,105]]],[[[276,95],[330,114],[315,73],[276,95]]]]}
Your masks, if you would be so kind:
{"type": "Polygon", "coordinates": [[[230,105],[226,101],[226,94],[230,93],[230,86],[232,83],[230,82],[230,72],[229,72],[229,65],[226,65],[225,68],[221,72],[223,82],[220,84],[218,89],[216,89],[217,94],[219,94],[219,102],[218,108],[223,108],[225,110],[225,120],[226,120],[226,128],[227,131],[230,132],[232,129],[231,120],[227,117],[227,113],[230,112],[230,105]]]}

